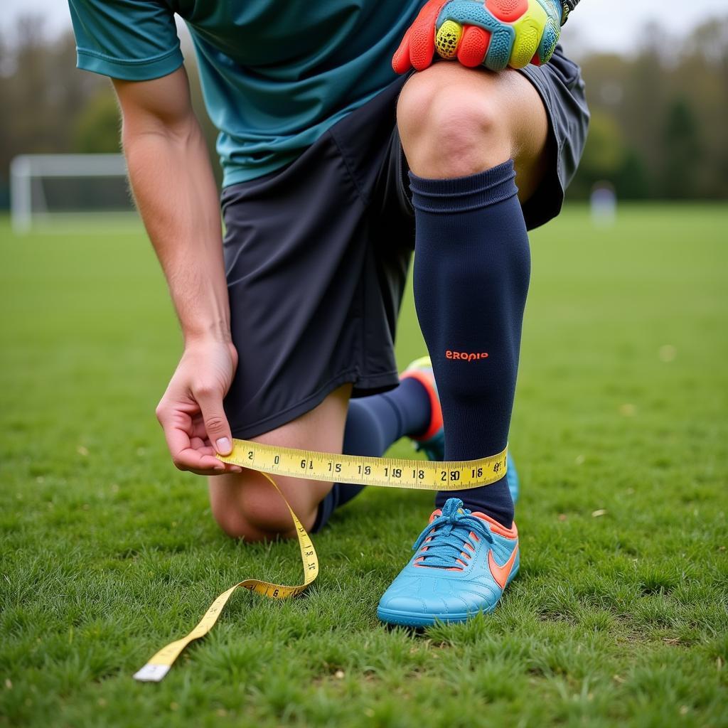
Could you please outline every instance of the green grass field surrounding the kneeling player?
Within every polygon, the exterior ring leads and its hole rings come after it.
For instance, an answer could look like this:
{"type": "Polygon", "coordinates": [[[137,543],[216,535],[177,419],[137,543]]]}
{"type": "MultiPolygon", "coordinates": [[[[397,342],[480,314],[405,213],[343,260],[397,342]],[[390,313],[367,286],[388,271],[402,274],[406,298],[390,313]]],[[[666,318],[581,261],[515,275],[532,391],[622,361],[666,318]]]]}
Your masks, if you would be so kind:
{"type": "MultiPolygon", "coordinates": [[[[296,583],[298,547],[224,537],[167,458],[180,337],[141,229],[0,221],[0,725],[728,726],[727,230],[727,207],[608,230],[572,207],[533,234],[523,561],[494,614],[376,620],[432,495],[372,489],[314,537],[305,596],[236,594],[138,684],[234,582],[296,583]]],[[[409,301],[400,364],[422,351],[409,301]]]]}

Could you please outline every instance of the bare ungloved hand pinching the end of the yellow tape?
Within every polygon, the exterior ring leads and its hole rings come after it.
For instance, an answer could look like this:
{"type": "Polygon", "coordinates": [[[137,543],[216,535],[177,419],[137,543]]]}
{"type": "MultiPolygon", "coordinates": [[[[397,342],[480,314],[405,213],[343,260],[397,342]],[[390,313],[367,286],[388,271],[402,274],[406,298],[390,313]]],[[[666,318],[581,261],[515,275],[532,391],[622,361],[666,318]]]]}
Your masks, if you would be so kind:
{"type": "Polygon", "coordinates": [[[242,472],[215,457],[232,451],[232,435],[223,410],[237,368],[237,351],[229,341],[187,344],[165,395],[157,419],[179,470],[197,475],[242,472]]]}

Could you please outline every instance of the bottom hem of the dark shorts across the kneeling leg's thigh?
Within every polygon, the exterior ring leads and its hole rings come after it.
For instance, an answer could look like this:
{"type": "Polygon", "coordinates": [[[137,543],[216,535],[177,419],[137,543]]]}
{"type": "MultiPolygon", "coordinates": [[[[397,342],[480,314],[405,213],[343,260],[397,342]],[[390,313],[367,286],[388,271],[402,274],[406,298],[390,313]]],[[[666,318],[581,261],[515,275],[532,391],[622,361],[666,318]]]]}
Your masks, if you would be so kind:
{"type": "Polygon", "coordinates": [[[250,422],[249,424],[235,425],[231,423],[232,436],[240,440],[248,440],[250,438],[256,438],[258,435],[264,435],[271,430],[276,430],[288,422],[293,422],[297,417],[306,414],[306,412],[310,412],[320,405],[334,389],[341,387],[342,384],[355,385],[354,391],[352,392],[353,397],[366,397],[394,389],[399,384],[399,375],[397,371],[394,371],[373,376],[359,376],[357,369],[347,369],[347,371],[340,373],[338,376],[333,377],[333,379],[329,379],[323,387],[317,389],[312,395],[305,397],[295,405],[287,407],[276,414],[266,416],[263,419],[258,419],[256,422],[250,422]]]}

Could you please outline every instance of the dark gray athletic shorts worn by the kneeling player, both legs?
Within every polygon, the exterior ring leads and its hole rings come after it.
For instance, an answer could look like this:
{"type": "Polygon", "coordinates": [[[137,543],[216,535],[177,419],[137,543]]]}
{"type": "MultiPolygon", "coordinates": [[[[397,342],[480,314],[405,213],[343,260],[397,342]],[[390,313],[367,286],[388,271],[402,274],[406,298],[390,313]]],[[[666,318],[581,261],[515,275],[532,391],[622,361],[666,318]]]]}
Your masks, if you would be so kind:
{"type": "MultiPolygon", "coordinates": [[[[558,215],[584,146],[579,68],[557,50],[522,73],[550,120],[550,165],[523,213],[558,215]]],[[[405,78],[282,170],[223,190],[232,338],[240,355],[225,409],[252,438],[290,422],[341,384],[353,396],[399,381],[394,339],[414,250],[407,163],[395,124],[405,78]]]]}

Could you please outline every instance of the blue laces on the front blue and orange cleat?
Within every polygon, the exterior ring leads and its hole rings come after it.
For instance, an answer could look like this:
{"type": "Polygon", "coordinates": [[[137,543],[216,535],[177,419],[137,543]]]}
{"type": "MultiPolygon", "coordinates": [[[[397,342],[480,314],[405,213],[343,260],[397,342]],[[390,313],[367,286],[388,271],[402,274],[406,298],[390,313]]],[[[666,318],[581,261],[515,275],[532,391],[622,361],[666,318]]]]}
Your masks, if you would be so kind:
{"type": "Polygon", "coordinates": [[[416,566],[462,571],[480,538],[494,543],[488,523],[464,509],[462,500],[450,498],[414,542],[412,550],[419,551],[416,566]]]}

